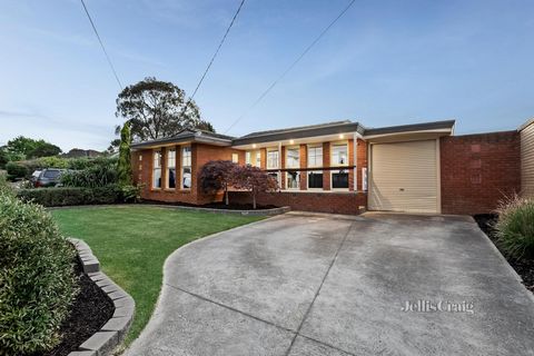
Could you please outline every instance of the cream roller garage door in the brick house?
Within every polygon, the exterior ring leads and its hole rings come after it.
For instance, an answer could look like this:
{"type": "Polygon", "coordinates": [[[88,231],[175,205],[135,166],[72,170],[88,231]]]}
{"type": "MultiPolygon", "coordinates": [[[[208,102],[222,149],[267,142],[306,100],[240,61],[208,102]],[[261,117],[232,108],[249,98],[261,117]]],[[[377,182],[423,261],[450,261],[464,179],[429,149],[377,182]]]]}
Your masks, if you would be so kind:
{"type": "Polygon", "coordinates": [[[437,141],[370,146],[370,210],[439,212],[437,141]]]}

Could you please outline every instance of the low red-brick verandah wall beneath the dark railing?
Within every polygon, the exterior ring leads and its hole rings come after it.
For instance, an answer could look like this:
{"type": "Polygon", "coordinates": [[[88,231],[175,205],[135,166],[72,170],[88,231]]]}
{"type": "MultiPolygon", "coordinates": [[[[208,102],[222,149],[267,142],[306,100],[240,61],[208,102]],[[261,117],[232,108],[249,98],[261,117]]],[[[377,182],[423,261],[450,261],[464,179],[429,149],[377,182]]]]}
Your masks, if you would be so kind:
{"type": "MultiPolygon", "coordinates": [[[[253,201],[247,191],[230,191],[229,199],[236,204],[253,201]]],[[[290,207],[291,210],[358,215],[365,211],[367,194],[277,191],[258,195],[257,204],[290,207]],[[364,208],[360,209],[360,207],[364,208]]]]}

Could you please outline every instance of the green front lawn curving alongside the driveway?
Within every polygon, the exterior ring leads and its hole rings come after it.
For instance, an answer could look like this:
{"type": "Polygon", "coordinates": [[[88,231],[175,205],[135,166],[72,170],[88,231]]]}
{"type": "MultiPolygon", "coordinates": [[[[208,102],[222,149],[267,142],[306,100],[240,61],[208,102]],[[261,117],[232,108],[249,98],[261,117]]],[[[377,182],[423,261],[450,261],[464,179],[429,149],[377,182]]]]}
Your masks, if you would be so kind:
{"type": "Polygon", "coordinates": [[[167,256],[200,237],[261,219],[145,206],[71,208],[51,212],[61,231],[88,243],[101,269],[136,300],[136,316],[126,338],[127,345],[139,335],[152,314],[167,256]]]}

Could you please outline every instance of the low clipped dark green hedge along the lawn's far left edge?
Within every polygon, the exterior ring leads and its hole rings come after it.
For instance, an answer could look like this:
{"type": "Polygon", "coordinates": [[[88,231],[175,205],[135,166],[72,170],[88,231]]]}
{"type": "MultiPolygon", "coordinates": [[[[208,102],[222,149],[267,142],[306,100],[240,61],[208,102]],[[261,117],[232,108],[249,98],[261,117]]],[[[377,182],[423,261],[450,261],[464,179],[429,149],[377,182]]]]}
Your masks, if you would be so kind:
{"type": "Polygon", "coordinates": [[[17,196],[23,201],[33,201],[46,207],[116,204],[122,202],[125,199],[122,190],[117,185],[97,188],[20,189],[17,191],[17,196]]]}

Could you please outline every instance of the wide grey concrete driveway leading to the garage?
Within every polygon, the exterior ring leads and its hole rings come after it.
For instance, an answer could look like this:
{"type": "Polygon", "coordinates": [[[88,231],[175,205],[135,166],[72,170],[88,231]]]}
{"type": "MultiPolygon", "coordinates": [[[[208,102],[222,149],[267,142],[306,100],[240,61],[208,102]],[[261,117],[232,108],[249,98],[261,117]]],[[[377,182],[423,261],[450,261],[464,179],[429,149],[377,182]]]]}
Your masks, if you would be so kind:
{"type": "Polygon", "coordinates": [[[469,218],[286,214],[175,251],[127,354],[534,355],[517,278],[469,218]]]}

